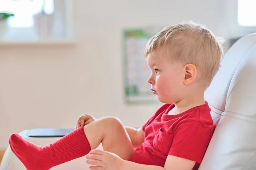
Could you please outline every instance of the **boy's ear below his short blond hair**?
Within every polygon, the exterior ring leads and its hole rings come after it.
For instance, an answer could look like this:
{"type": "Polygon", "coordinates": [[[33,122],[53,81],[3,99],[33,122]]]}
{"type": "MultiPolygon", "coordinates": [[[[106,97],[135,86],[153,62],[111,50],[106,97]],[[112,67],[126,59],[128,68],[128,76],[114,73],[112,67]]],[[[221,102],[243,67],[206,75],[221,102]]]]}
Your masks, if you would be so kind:
{"type": "Polygon", "coordinates": [[[191,84],[192,82],[195,81],[196,74],[197,74],[197,70],[196,70],[195,65],[186,64],[184,66],[184,73],[185,73],[185,76],[184,76],[183,82],[184,82],[185,85],[189,85],[189,84],[191,84]]]}

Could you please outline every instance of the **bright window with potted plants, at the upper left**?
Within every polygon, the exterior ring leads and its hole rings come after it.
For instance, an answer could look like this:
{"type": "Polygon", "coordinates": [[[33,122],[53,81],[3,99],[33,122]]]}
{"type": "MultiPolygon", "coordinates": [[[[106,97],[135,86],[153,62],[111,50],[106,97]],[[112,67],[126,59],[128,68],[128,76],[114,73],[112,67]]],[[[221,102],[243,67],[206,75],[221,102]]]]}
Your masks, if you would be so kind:
{"type": "Polygon", "coordinates": [[[0,12],[15,14],[0,28],[2,43],[72,38],[72,0],[0,0],[0,12]]]}

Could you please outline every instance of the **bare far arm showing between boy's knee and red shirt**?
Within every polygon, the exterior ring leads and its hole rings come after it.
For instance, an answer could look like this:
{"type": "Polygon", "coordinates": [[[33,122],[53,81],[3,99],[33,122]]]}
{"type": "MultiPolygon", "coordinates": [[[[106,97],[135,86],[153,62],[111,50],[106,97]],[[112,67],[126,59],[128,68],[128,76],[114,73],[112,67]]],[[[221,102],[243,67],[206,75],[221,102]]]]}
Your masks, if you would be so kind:
{"type": "Polygon", "coordinates": [[[125,127],[134,148],[138,148],[144,142],[144,131],[142,127],[136,129],[134,127],[125,127]]]}

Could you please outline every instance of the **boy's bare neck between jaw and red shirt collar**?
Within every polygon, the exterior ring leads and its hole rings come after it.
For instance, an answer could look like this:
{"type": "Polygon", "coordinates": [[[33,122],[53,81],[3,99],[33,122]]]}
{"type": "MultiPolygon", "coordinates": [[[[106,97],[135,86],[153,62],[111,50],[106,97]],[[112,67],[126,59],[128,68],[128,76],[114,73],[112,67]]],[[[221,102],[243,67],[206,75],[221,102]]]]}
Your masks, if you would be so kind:
{"type": "Polygon", "coordinates": [[[196,106],[204,105],[204,92],[186,96],[186,98],[175,103],[175,107],[168,114],[179,114],[196,106]]]}

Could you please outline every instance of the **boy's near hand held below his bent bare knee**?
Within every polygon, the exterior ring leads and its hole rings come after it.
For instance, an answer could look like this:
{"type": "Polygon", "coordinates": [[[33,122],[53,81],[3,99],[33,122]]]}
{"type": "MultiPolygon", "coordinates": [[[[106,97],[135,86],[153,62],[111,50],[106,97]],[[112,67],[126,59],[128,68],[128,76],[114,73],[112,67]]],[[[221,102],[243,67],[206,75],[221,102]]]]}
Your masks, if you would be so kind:
{"type": "Polygon", "coordinates": [[[87,164],[93,165],[91,170],[121,170],[124,162],[116,154],[104,150],[91,150],[86,158],[87,164]]]}

